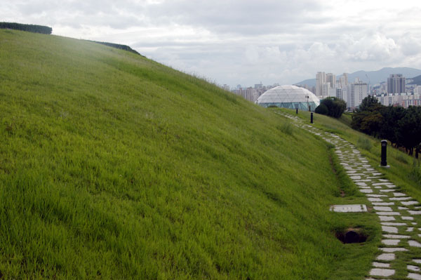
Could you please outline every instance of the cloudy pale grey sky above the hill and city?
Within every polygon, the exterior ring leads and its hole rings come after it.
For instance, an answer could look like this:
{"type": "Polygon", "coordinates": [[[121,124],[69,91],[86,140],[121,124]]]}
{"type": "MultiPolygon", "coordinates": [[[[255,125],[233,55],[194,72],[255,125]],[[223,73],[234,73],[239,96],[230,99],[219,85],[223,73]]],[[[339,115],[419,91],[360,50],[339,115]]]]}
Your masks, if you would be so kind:
{"type": "Polygon", "coordinates": [[[0,1],[0,22],[126,44],[216,84],[295,84],[316,72],[421,69],[421,5],[400,0],[0,1]]]}

